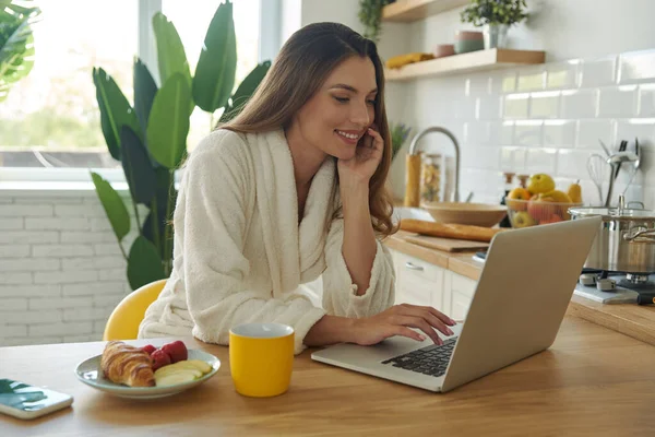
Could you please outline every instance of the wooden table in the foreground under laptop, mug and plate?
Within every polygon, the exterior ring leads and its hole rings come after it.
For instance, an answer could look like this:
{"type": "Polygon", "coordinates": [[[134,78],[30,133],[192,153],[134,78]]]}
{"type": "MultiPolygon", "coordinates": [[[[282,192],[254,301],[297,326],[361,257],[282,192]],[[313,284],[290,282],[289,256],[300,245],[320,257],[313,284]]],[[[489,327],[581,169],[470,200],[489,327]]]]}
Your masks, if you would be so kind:
{"type": "MultiPolygon", "coordinates": [[[[160,345],[171,339],[158,339],[160,345]]],[[[2,436],[553,436],[651,435],[655,347],[565,317],[547,351],[438,394],[296,357],[289,391],[237,394],[228,349],[183,339],[222,361],[205,383],[170,398],[115,398],[78,381],[78,363],[103,342],[0,349],[0,375],[74,397],[34,421],[0,414],[2,436]]],[[[138,345],[145,341],[130,342],[138,345]]]]}

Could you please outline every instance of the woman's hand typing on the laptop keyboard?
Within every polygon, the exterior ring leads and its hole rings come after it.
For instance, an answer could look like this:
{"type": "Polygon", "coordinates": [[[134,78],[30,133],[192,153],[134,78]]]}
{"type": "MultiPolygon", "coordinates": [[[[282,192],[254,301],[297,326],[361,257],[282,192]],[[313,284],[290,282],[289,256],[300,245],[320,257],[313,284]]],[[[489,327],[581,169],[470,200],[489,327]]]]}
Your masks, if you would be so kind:
{"type": "Polygon", "coordinates": [[[409,328],[418,328],[436,344],[443,344],[437,332],[452,335],[455,321],[432,307],[409,304],[394,305],[376,316],[355,319],[353,323],[353,343],[371,345],[393,335],[403,335],[417,341],[424,341],[425,335],[409,328]]]}

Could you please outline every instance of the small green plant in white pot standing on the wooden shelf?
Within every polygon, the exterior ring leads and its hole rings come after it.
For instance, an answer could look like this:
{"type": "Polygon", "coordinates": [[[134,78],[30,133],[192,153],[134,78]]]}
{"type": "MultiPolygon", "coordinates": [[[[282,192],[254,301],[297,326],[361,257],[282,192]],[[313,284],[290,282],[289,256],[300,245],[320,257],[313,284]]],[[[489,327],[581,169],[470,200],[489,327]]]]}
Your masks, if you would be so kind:
{"type": "Polygon", "coordinates": [[[463,23],[484,26],[485,49],[507,47],[508,29],[527,17],[525,0],[473,0],[462,11],[463,23]]]}

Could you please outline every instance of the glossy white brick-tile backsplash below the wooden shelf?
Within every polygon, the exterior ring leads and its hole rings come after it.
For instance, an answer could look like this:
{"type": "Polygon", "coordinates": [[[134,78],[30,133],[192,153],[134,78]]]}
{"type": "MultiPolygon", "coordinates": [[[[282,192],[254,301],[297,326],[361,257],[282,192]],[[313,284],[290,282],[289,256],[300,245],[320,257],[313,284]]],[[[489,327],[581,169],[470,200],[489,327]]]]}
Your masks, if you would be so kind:
{"type": "MultiPolygon", "coordinates": [[[[498,202],[502,172],[512,170],[548,173],[564,190],[581,179],[585,202],[597,204],[588,155],[603,153],[598,140],[610,147],[627,140],[632,149],[636,137],[642,164],[627,199],[655,208],[655,50],[419,79],[403,86],[409,117],[403,121],[420,129],[445,127],[460,141],[462,197],[474,191],[474,201],[498,202]]],[[[437,137],[427,135],[422,147],[452,153],[448,140],[437,137]]],[[[402,193],[397,185],[404,180],[404,153],[392,172],[394,191],[402,193]]],[[[621,169],[615,199],[630,172],[621,169]]],[[[605,190],[607,185],[606,180],[605,190]]]]}

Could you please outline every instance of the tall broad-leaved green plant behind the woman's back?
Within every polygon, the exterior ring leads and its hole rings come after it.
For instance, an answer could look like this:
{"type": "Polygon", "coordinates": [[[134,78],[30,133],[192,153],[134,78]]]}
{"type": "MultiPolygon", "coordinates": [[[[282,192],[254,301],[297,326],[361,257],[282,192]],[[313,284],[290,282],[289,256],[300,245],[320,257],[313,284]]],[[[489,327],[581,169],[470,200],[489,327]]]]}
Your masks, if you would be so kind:
{"type": "Polygon", "coordinates": [[[104,69],[93,69],[100,127],[111,157],[122,164],[129,186],[128,202],[139,232],[129,250],[123,248],[131,227],[128,206],[102,176],[92,172],[92,179],[128,263],[132,290],[170,274],[175,172],[187,155],[193,108],[199,106],[210,114],[223,108],[219,121],[229,120],[271,67],[271,61],[260,63],[234,91],[237,47],[229,1],[218,7],[210,23],[193,76],[175,25],[157,13],[153,28],[160,87],[136,58],[132,105],[104,69]]]}

